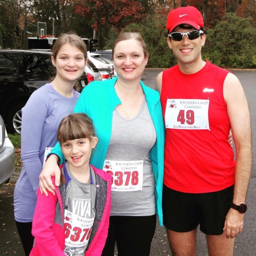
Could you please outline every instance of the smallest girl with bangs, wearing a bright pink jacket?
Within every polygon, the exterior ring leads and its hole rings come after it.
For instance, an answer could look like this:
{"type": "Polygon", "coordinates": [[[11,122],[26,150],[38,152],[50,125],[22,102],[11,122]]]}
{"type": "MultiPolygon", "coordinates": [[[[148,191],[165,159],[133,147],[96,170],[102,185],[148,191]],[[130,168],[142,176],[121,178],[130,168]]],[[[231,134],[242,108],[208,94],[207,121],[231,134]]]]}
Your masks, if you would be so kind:
{"type": "Polygon", "coordinates": [[[57,139],[67,162],[60,166],[55,195],[38,189],[30,256],[100,256],[108,235],[111,175],[89,165],[98,142],[92,120],[84,113],[65,117],[57,139]]]}

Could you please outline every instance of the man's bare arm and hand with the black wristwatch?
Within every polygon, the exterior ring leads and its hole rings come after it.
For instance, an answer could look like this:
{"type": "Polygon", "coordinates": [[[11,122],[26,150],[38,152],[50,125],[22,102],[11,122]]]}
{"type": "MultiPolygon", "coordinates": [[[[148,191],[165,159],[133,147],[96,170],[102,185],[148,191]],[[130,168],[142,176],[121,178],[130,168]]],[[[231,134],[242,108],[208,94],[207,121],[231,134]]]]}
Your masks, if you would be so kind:
{"type": "MultiPolygon", "coordinates": [[[[223,92],[236,146],[236,176],[233,203],[240,205],[245,203],[252,169],[250,113],[241,83],[231,73],[227,75],[224,81],[223,92]]],[[[224,225],[227,238],[234,238],[241,233],[243,220],[244,214],[230,208],[224,225]]]]}

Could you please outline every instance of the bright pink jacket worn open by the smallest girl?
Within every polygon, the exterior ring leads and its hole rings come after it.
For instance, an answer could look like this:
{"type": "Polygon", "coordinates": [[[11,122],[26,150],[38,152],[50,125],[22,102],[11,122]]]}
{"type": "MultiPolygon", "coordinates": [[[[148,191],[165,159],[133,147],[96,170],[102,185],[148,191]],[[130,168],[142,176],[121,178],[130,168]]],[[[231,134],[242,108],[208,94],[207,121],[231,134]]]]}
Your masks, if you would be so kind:
{"type": "MultiPolygon", "coordinates": [[[[111,209],[111,175],[91,166],[96,177],[95,219],[85,256],[101,256],[108,236],[109,216],[111,209]]],[[[55,178],[52,177],[55,186],[55,178]]],[[[35,237],[30,256],[65,256],[64,199],[65,184],[55,186],[55,195],[48,197],[37,192],[38,201],[32,224],[32,235],[35,237]],[[57,204],[59,202],[59,204],[57,204]],[[58,211],[57,211],[58,207],[58,211]],[[61,212],[61,216],[55,216],[61,212]]]]}

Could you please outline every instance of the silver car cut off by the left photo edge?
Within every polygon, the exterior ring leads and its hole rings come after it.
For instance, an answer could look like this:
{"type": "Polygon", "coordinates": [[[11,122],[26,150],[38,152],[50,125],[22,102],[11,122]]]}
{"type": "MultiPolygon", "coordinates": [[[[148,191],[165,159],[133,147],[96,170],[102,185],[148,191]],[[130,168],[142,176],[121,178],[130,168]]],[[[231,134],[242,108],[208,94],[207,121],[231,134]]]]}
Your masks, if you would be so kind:
{"type": "Polygon", "coordinates": [[[7,136],[2,116],[0,116],[0,186],[8,182],[15,171],[15,149],[7,136]]]}

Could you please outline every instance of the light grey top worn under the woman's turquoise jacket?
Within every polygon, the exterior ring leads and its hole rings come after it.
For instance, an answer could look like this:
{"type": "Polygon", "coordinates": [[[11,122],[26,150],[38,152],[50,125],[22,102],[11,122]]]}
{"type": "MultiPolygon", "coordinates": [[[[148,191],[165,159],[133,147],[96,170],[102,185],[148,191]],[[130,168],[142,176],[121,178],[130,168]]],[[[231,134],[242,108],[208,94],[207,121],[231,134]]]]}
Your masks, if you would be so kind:
{"type": "Polygon", "coordinates": [[[143,186],[138,191],[111,191],[111,216],[147,216],[156,213],[155,179],[149,158],[149,151],[155,142],[156,131],[145,97],[139,113],[132,119],[125,119],[116,109],[113,111],[111,140],[106,159],[143,160],[143,186]]]}

